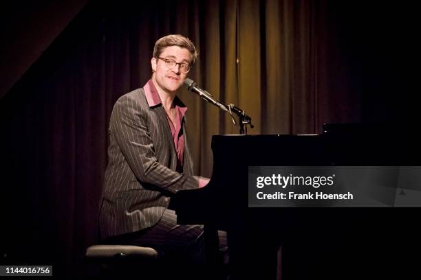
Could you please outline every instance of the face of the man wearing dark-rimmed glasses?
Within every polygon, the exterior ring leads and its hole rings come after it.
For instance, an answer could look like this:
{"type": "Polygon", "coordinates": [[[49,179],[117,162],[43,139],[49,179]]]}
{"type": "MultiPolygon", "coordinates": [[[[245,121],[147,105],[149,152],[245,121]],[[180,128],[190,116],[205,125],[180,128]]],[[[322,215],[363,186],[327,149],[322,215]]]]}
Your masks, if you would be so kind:
{"type": "MultiPolygon", "coordinates": [[[[166,47],[159,56],[164,59],[172,59],[178,63],[191,63],[192,57],[190,51],[184,47],[171,46],[166,47]]],[[[151,65],[158,86],[167,93],[175,93],[186,80],[187,73],[180,71],[180,65],[175,65],[171,69],[166,67],[165,61],[159,58],[152,58],[151,65]]]]}

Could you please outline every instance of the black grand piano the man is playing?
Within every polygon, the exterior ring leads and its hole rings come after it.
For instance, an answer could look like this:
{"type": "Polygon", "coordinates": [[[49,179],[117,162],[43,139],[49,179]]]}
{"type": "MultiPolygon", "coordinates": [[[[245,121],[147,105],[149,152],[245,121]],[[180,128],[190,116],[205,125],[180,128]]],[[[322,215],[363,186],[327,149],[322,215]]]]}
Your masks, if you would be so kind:
{"type": "Polygon", "coordinates": [[[249,208],[248,167],[420,165],[418,143],[389,125],[327,124],[321,135],[214,135],[210,183],[177,192],[177,222],[204,224],[208,250],[215,230],[227,231],[230,279],[401,274],[421,259],[419,209],[249,208]]]}

